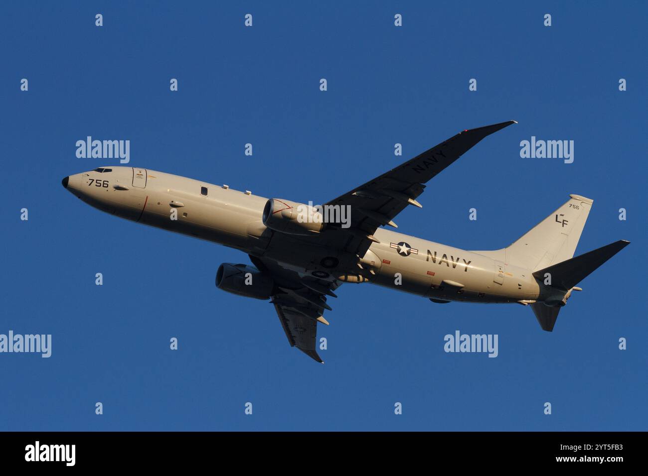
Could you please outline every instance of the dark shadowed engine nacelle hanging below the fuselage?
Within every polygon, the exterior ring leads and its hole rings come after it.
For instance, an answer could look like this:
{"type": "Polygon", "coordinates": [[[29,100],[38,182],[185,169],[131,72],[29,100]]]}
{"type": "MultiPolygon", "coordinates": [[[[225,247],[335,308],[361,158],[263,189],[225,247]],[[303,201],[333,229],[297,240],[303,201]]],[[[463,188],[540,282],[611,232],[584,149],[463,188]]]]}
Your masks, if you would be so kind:
{"type": "Polygon", "coordinates": [[[228,293],[255,299],[270,299],[273,287],[273,280],[254,266],[223,263],[216,271],[216,288],[228,293]]]}

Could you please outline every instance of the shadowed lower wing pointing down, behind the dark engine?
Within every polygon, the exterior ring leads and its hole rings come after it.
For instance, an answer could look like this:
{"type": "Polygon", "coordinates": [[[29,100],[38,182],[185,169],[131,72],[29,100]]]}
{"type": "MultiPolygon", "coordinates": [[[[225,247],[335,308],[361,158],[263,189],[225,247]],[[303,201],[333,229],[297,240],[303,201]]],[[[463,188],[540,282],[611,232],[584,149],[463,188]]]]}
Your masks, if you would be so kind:
{"type": "Polygon", "coordinates": [[[268,258],[252,255],[249,258],[259,271],[272,277],[275,282],[275,291],[270,299],[290,346],[324,363],[316,350],[318,322],[329,324],[322,315],[325,309],[330,310],[326,295],[337,297],[333,289],[341,283],[302,276],[268,258]]]}

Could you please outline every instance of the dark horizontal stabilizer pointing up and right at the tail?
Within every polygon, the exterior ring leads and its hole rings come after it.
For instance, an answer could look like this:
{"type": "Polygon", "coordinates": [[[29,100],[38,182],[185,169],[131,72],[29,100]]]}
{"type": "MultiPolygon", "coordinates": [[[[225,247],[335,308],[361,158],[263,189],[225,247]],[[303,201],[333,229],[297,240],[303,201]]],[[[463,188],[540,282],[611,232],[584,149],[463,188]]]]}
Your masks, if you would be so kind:
{"type": "Polygon", "coordinates": [[[630,242],[626,240],[619,240],[584,255],[535,271],[533,276],[544,280],[545,275],[549,273],[551,275],[551,286],[568,291],[629,244],[630,242]]]}

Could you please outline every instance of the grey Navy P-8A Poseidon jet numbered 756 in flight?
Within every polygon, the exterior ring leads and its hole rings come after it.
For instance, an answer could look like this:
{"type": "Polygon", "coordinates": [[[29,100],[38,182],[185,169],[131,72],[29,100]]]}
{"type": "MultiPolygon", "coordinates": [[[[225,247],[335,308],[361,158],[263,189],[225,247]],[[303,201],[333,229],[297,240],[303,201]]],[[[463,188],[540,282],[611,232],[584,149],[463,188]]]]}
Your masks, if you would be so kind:
{"type": "Polygon", "coordinates": [[[381,228],[397,228],[397,214],[421,207],[417,198],[426,182],[514,123],[464,130],[319,207],[136,167],[101,167],[62,183],[110,214],[247,253],[253,266],[221,264],[216,286],[270,299],[290,345],[321,362],[317,325],[329,324],[327,298],[344,282],[379,284],[437,303],[529,305],[542,329],[551,331],[561,306],[581,290],[576,285],[629,244],[619,240],[573,258],[592,207],[592,199],[579,195],[496,251],[465,251],[381,228]],[[335,220],[323,216],[327,210],[335,220]]]}

